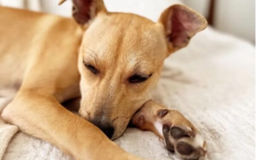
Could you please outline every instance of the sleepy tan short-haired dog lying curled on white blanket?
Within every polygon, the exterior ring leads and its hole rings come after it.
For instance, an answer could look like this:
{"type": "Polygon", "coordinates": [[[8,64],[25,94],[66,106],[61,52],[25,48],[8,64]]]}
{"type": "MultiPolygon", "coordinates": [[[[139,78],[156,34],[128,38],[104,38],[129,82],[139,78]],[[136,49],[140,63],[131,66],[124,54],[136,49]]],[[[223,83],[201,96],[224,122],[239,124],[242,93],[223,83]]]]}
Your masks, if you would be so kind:
{"type": "Polygon", "coordinates": [[[141,159],[111,141],[130,121],[183,159],[204,157],[195,126],[149,96],[164,59],[206,28],[204,17],[173,5],[154,23],[102,0],[73,0],[72,11],[74,20],[0,7],[0,95],[12,97],[1,117],[76,160],[141,159]],[[80,116],[61,105],[79,97],[80,116]]]}

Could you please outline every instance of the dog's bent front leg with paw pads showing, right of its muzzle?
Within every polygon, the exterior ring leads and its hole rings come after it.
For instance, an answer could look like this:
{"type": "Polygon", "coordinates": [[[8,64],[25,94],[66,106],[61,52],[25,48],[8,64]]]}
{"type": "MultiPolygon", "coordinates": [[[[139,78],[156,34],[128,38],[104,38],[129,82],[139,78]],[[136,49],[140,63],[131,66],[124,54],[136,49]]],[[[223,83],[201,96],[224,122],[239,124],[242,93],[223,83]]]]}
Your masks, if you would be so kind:
{"type": "Polygon", "coordinates": [[[206,155],[206,142],[199,131],[180,112],[169,110],[154,101],[146,102],[132,118],[142,130],[153,131],[164,139],[169,151],[186,160],[206,155]]]}

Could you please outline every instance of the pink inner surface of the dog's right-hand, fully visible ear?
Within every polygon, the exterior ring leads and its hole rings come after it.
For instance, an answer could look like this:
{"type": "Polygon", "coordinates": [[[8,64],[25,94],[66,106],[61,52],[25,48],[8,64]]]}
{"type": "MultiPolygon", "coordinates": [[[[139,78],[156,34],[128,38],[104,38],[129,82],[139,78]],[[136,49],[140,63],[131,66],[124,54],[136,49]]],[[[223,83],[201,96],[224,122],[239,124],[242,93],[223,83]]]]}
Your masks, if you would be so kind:
{"type": "Polygon", "coordinates": [[[169,41],[172,42],[173,47],[184,47],[197,29],[196,17],[192,12],[179,8],[174,8],[170,16],[171,34],[169,35],[169,41]]]}

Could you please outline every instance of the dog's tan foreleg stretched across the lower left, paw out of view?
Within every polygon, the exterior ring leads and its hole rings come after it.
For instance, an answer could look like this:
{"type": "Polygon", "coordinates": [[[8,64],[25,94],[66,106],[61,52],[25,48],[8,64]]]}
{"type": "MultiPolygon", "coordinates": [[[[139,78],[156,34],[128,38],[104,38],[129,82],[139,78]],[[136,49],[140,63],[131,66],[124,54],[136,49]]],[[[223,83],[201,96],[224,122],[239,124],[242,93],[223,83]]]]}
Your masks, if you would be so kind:
{"type": "Polygon", "coordinates": [[[137,159],[109,140],[96,126],[67,111],[52,95],[20,92],[3,110],[2,117],[77,160],[137,159]]]}

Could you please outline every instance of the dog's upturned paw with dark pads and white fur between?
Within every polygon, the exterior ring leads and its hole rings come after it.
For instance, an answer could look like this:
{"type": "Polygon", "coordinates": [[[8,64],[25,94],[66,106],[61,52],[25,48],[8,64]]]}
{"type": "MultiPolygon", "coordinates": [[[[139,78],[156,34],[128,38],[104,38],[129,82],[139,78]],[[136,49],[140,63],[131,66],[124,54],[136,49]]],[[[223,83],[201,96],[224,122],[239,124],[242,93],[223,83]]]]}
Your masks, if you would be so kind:
{"type": "MultiPolygon", "coordinates": [[[[162,111],[163,112],[163,111],[162,111]]],[[[166,111],[164,111],[165,114],[166,111]]],[[[159,116],[159,114],[157,114],[159,116]]],[[[162,116],[162,115],[161,115],[162,116]]],[[[171,116],[164,118],[163,137],[166,148],[178,154],[184,160],[198,160],[206,156],[206,142],[201,134],[186,123],[175,124],[169,121],[171,116]]]]}

